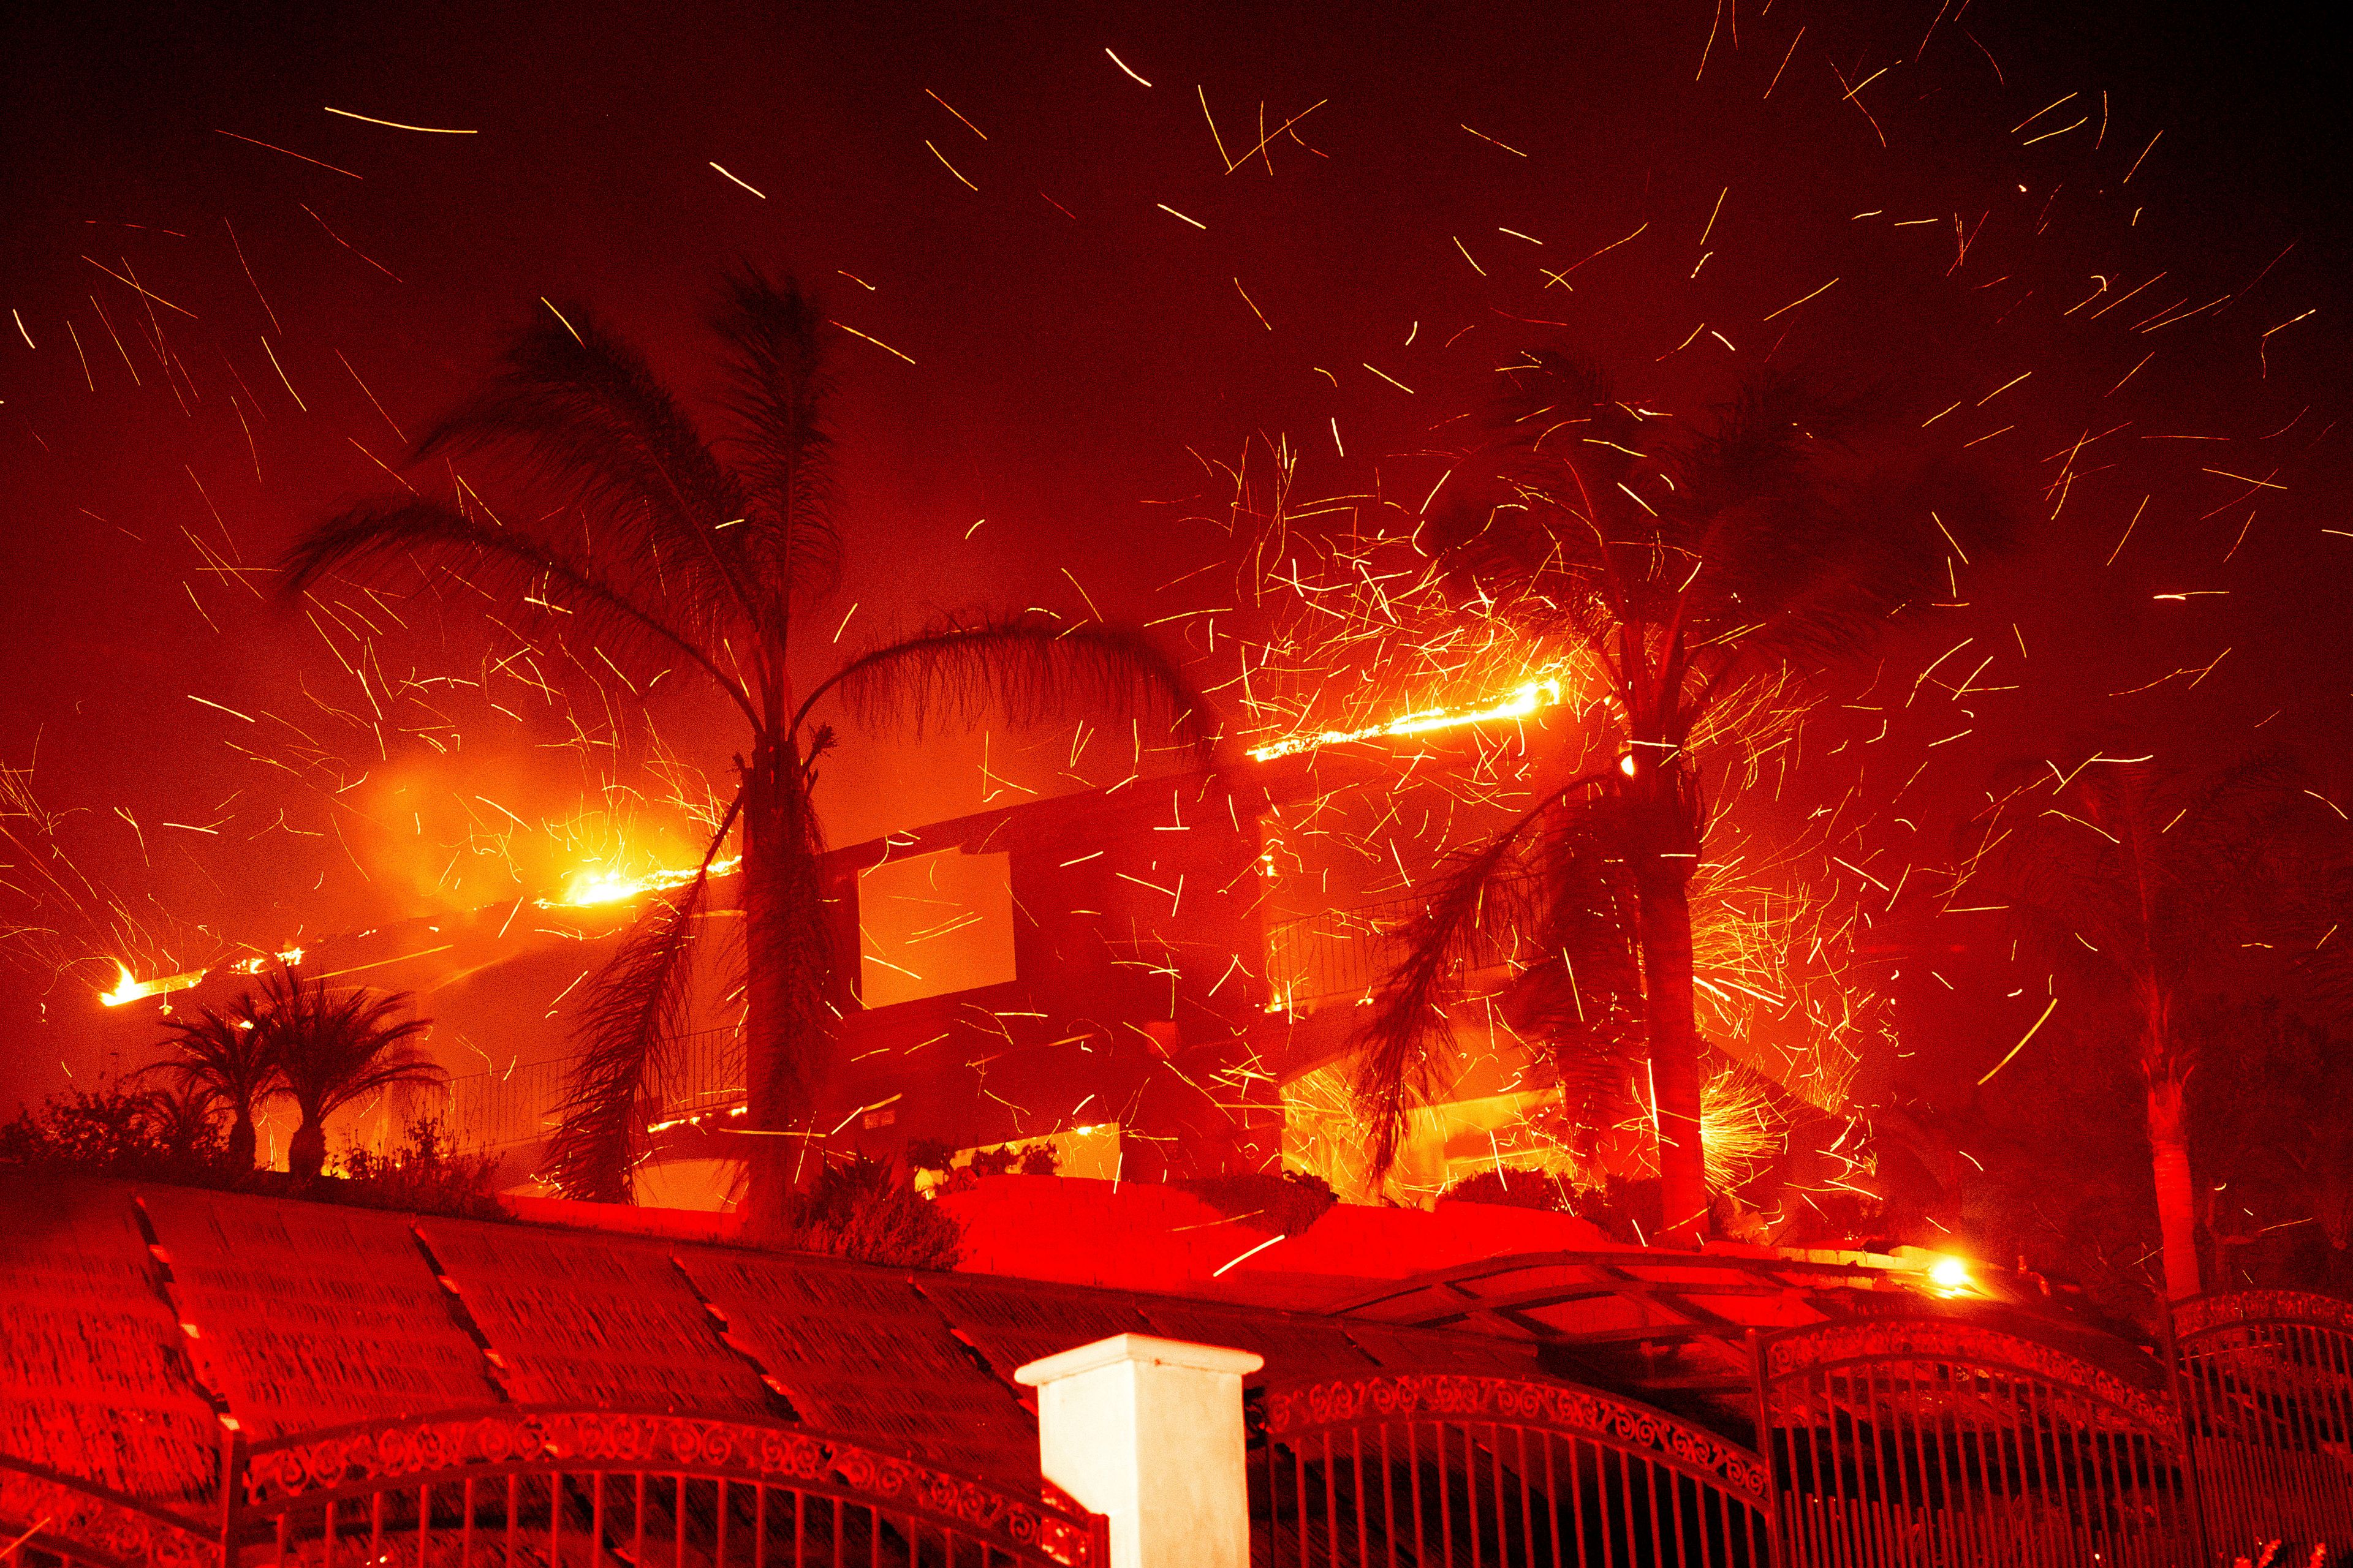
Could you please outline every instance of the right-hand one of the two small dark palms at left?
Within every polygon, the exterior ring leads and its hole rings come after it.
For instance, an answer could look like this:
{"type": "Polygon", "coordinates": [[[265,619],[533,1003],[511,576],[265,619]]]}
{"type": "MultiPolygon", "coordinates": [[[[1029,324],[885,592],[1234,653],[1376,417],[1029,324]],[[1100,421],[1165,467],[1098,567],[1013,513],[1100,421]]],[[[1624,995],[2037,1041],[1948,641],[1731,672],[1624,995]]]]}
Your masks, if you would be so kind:
{"type": "Polygon", "coordinates": [[[428,1018],[402,1018],[407,992],[329,990],[280,966],[261,983],[256,1034],[278,1063],[278,1093],[294,1100],[301,1126],[287,1143],[287,1173],[318,1175],[327,1164],[327,1117],[367,1095],[447,1074],[416,1046],[428,1018]]]}

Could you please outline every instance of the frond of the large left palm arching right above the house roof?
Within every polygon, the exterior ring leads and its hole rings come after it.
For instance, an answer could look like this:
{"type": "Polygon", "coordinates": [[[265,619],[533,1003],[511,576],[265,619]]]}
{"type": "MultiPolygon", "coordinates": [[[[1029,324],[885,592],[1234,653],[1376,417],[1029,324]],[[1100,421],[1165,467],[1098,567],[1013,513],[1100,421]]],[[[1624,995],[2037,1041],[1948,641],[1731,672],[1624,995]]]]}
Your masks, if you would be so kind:
{"type": "Polygon", "coordinates": [[[1042,614],[946,623],[871,649],[802,703],[802,717],[835,696],[854,719],[915,736],[939,719],[1007,724],[1066,715],[1092,719],[1162,712],[1169,733],[1198,755],[1209,748],[1202,701],[1160,649],[1120,625],[1064,625],[1042,614]]]}

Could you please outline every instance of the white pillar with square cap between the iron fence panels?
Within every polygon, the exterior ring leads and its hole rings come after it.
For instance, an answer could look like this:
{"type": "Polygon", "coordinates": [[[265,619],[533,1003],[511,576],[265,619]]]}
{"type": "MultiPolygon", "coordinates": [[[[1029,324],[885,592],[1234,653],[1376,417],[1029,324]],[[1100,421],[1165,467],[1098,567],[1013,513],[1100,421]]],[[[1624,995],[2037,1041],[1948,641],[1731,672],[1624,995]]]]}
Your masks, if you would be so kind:
{"type": "Polygon", "coordinates": [[[1122,1333],[1031,1361],[1045,1479],[1111,1519],[1111,1568],[1249,1568],[1242,1378],[1266,1356],[1122,1333]]]}

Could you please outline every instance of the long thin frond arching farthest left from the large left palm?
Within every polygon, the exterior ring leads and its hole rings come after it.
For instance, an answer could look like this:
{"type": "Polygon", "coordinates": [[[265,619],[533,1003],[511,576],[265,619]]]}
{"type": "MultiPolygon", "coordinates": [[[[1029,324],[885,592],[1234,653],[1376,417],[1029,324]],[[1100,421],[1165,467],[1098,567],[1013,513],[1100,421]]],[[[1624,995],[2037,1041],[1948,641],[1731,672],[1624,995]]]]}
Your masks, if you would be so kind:
{"type": "Polygon", "coordinates": [[[699,665],[736,708],[758,724],[744,684],[664,616],[607,581],[595,567],[548,543],[478,522],[454,505],[419,496],[362,501],[304,534],[285,552],[280,595],[296,599],[339,567],[358,567],[391,557],[426,555],[492,574],[478,583],[508,597],[544,597],[584,618],[598,635],[624,646],[635,642],[682,654],[699,665]]]}

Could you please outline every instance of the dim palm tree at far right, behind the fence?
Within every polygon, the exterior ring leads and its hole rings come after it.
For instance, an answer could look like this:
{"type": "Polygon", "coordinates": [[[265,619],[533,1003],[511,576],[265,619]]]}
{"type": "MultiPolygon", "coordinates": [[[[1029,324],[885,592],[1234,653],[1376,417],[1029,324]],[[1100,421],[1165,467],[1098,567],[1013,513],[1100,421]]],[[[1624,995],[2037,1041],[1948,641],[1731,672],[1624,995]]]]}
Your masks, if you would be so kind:
{"type": "Polygon", "coordinates": [[[2191,1020],[2282,936],[2287,846],[2318,809],[2273,757],[2207,776],[2101,757],[2038,773],[1998,792],[1962,886],[2002,898],[2054,971],[2115,1009],[2085,1034],[2129,1048],[2139,1072],[2165,1295],[2184,1300],[2200,1288],[2184,1093],[2212,1044],[2191,1020]]]}

